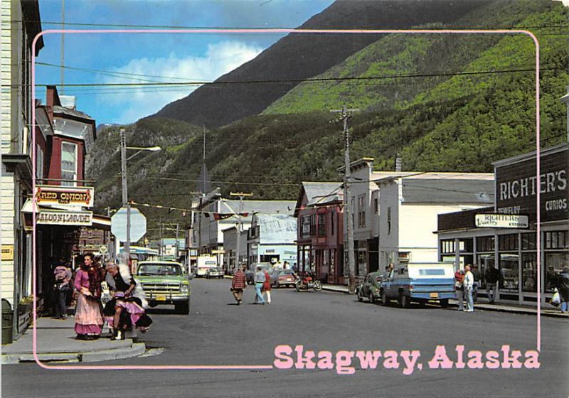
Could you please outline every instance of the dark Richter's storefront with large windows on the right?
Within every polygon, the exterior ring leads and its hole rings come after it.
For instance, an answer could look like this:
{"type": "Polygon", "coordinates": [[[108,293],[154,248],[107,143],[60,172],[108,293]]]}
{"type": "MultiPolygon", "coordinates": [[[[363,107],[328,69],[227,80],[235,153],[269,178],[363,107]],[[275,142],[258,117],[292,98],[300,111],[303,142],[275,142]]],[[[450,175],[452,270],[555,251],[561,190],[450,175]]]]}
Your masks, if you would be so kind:
{"type": "Polygon", "coordinates": [[[542,281],[542,304],[553,294],[555,277],[569,266],[568,144],[541,151],[540,178],[536,176],[536,154],[523,154],[494,163],[496,199],[492,208],[439,215],[440,261],[457,268],[477,264],[481,296],[486,286],[484,271],[500,271],[502,301],[537,302],[538,272],[542,281]],[[541,249],[538,249],[536,196],[541,193],[541,249]],[[482,214],[516,215],[527,220],[519,225],[482,226],[482,214]],[[538,269],[538,256],[541,269],[538,269]]]}

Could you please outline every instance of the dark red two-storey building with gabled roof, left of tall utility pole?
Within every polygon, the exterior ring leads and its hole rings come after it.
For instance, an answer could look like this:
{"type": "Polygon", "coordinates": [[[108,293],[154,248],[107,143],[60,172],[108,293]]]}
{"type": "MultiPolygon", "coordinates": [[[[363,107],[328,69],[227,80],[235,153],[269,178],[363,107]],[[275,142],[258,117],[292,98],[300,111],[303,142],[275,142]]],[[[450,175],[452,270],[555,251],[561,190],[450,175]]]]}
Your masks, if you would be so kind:
{"type": "Polygon", "coordinates": [[[341,183],[302,183],[297,217],[298,271],[344,284],[344,211],[341,183]]]}

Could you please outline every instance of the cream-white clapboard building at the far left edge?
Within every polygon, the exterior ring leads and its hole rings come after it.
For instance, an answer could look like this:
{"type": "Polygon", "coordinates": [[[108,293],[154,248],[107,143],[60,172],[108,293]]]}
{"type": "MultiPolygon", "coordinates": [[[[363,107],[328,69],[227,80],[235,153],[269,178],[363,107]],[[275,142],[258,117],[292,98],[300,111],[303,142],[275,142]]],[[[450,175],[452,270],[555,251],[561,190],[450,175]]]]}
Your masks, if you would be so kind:
{"type": "MultiPolygon", "coordinates": [[[[18,311],[31,298],[32,240],[21,213],[32,194],[32,42],[41,32],[38,1],[1,1],[1,296],[14,308],[14,333],[29,322],[30,311],[18,311]]],[[[35,55],[43,48],[36,41],[35,55]]]]}

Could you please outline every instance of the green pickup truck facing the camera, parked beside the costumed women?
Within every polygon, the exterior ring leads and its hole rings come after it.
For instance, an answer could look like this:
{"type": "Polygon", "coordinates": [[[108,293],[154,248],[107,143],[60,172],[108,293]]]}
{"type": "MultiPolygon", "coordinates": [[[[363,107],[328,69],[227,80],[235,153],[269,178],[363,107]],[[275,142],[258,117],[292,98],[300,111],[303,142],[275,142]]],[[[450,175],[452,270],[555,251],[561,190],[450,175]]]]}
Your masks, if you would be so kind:
{"type": "Polygon", "coordinates": [[[174,304],[176,313],[190,313],[190,281],[179,262],[139,262],[137,279],[147,295],[149,306],[174,304]]]}

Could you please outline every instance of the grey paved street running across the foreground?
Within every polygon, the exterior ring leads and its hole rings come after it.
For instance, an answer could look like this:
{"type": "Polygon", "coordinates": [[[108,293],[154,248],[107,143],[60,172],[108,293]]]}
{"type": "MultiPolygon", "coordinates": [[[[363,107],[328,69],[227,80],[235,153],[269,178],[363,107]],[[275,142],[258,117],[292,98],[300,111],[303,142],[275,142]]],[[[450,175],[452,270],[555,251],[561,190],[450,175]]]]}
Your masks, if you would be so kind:
{"type": "MultiPolygon", "coordinates": [[[[569,382],[568,320],[542,319],[539,369],[523,365],[526,350],[536,347],[536,316],[476,311],[461,313],[435,306],[401,309],[366,302],[355,296],[321,291],[297,293],[273,290],[270,306],[255,306],[253,289],[244,305],[235,306],[230,282],[194,279],[190,316],[171,309],[154,309],[154,326],[144,342],[146,357],[89,365],[272,365],[275,347],[331,352],[332,369],[271,370],[43,370],[35,364],[2,367],[2,397],[60,397],[83,386],[82,397],[131,394],[136,397],[567,397],[569,382]],[[445,345],[455,361],[464,345],[464,362],[471,350],[496,350],[502,345],[521,350],[521,369],[430,369],[437,345],[445,345]],[[341,350],[380,350],[375,370],[361,369],[354,356],[344,366],[341,350]],[[414,366],[389,365],[386,351],[419,350],[414,366]],[[336,357],[336,353],[340,356],[336,357]],[[422,370],[418,370],[418,364],[422,370]],[[351,375],[339,375],[349,372],[351,375]],[[404,375],[404,372],[411,373],[404,375]],[[80,378],[80,380],[78,380],[80,378]]],[[[402,352],[403,351],[403,352],[402,352]]],[[[357,354],[356,354],[357,355],[357,354]]],[[[285,367],[287,357],[281,355],[285,367]]],[[[501,361],[503,356],[499,356],[501,361]]],[[[314,360],[318,362],[318,358],[314,360]]],[[[482,363],[488,364],[482,358],[482,363]]],[[[434,362],[433,362],[434,363],[434,362]]],[[[77,364],[75,364],[77,365],[77,364]]],[[[490,363],[491,366],[491,363],[490,363]]]]}

